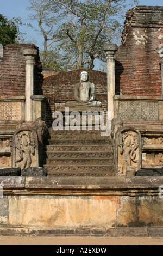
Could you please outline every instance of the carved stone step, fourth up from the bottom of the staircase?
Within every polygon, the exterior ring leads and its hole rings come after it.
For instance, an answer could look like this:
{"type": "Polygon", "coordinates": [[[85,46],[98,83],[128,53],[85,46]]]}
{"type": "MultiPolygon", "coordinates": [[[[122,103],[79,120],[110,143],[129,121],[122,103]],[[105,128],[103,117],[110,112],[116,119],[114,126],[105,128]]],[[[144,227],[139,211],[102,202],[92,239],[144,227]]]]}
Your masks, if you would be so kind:
{"type": "Polygon", "coordinates": [[[55,157],[72,157],[72,158],[85,158],[85,157],[107,157],[109,159],[113,157],[113,153],[112,152],[101,152],[101,151],[58,151],[58,152],[54,152],[54,151],[48,151],[45,153],[45,156],[47,157],[47,159],[52,159],[55,157]]]}

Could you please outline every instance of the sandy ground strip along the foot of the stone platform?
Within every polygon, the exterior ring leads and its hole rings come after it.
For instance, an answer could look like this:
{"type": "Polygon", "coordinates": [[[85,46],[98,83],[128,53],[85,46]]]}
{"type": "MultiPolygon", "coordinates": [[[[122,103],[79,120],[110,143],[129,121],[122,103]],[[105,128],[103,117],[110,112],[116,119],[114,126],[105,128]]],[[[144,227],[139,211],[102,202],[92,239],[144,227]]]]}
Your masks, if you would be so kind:
{"type": "Polygon", "coordinates": [[[163,245],[162,238],[153,237],[4,237],[0,236],[0,245],[163,245]]]}

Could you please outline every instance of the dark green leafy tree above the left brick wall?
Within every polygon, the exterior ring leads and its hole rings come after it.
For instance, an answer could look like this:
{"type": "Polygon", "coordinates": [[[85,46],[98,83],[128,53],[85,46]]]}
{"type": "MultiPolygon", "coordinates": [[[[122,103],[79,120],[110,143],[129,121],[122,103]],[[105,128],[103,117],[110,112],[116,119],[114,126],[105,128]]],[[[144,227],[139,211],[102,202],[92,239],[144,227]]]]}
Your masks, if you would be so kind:
{"type": "Polygon", "coordinates": [[[18,27],[13,21],[8,21],[7,17],[0,14],[0,44],[3,47],[13,44],[18,36],[18,27]]]}

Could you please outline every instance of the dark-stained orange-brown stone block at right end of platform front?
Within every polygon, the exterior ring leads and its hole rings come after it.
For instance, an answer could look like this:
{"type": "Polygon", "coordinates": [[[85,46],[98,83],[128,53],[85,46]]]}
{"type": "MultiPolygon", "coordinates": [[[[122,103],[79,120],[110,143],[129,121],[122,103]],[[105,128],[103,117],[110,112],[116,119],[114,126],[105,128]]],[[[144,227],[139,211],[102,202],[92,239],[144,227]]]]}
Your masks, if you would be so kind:
{"type": "Polygon", "coordinates": [[[117,226],[148,227],[163,225],[163,200],[158,196],[120,197],[117,226]]]}

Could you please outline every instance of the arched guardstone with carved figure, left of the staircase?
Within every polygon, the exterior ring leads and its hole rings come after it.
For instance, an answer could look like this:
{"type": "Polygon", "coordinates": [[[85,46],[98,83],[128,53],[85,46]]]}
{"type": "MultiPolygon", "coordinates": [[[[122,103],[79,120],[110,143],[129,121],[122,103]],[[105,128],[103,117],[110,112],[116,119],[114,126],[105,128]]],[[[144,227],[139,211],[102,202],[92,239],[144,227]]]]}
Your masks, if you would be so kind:
{"type": "Polygon", "coordinates": [[[23,127],[23,129],[15,131],[12,144],[12,167],[27,169],[39,166],[38,138],[33,128],[23,127]]]}

